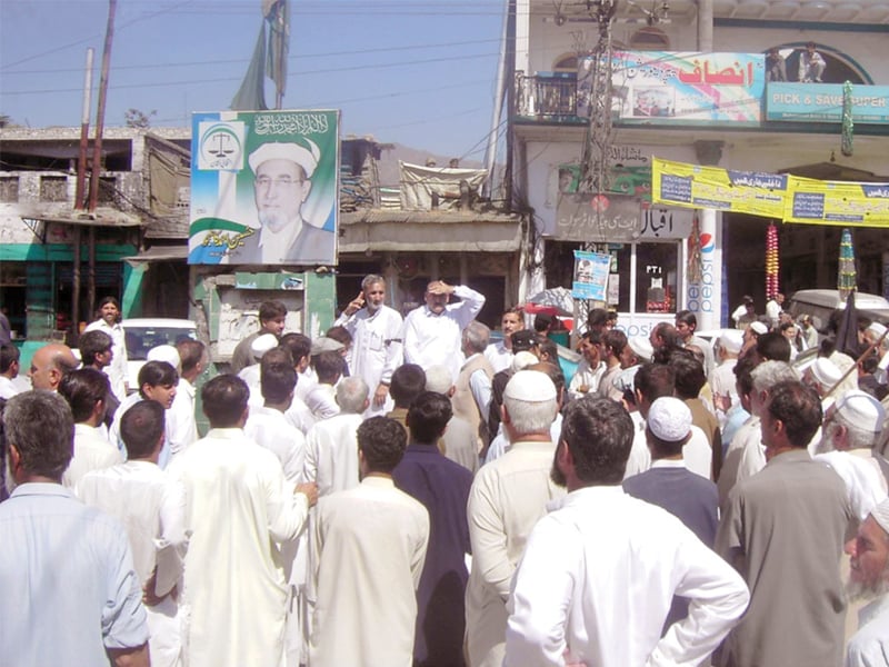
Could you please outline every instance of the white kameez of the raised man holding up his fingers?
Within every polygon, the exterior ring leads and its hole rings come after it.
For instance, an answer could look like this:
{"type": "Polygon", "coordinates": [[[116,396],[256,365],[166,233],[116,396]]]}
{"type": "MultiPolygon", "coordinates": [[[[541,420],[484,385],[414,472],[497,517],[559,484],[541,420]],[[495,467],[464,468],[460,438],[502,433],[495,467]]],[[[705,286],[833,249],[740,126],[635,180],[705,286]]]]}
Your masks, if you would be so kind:
{"type": "Polygon", "coordinates": [[[373,407],[372,397],[380,382],[388,385],[392,379],[392,371],[401,366],[401,329],[404,326],[401,315],[388,306],[381,306],[373,313],[361,308],[351,316],[340,315],[334,323],[346,327],[352,335],[352,347],[348,356],[349,370],[368,385],[371,401],[367,415],[389,412],[394,406],[391,397],[387,397],[386,405],[380,408],[373,407]]]}

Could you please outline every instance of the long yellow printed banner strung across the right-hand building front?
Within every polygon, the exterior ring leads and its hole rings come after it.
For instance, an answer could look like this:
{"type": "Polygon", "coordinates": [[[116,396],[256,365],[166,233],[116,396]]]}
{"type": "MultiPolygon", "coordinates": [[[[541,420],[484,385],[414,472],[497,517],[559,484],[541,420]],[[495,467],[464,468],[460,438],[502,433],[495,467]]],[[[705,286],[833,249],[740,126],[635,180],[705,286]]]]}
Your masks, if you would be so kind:
{"type": "Polygon", "coordinates": [[[651,201],[785,222],[889,227],[889,183],[820,181],[652,158],[651,201]]]}

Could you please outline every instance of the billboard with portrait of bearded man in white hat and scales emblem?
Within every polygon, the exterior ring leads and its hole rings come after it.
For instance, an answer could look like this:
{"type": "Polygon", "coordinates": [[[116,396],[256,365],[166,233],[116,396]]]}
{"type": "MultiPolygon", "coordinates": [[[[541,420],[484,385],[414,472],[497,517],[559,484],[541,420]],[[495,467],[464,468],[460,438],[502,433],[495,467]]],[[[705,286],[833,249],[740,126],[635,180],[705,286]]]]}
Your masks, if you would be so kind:
{"type": "Polygon", "coordinates": [[[337,261],[338,111],[196,115],[189,263],[337,261]]]}

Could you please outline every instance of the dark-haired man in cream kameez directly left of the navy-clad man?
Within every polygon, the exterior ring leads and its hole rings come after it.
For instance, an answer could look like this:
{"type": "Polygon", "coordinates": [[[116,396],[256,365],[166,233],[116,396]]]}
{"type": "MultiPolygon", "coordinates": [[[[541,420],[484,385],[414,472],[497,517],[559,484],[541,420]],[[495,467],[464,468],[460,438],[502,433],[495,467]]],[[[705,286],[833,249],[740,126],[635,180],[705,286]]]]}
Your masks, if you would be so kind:
{"type": "Polygon", "coordinates": [[[311,536],[311,667],[410,667],[416,590],[429,541],[426,508],[394,487],[404,429],[372,417],[358,430],[361,484],[318,504],[311,536]]]}

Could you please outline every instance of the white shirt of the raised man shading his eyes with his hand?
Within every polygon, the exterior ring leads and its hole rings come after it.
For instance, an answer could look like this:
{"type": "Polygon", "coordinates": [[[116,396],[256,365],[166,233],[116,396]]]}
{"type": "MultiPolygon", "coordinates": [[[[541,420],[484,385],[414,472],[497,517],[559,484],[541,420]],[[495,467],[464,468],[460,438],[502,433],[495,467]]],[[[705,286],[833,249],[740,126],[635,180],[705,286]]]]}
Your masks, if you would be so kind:
{"type": "Polygon", "coordinates": [[[417,364],[423,370],[432,366],[444,366],[451,371],[451,382],[457,380],[463,366],[461,351],[462,331],[485,306],[485,296],[466,286],[458,285],[453,293],[459,303],[449,303],[441,315],[434,315],[423,305],[414,308],[404,318],[404,362],[417,364]]]}

